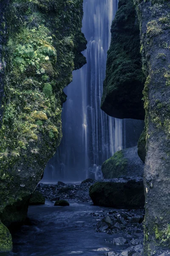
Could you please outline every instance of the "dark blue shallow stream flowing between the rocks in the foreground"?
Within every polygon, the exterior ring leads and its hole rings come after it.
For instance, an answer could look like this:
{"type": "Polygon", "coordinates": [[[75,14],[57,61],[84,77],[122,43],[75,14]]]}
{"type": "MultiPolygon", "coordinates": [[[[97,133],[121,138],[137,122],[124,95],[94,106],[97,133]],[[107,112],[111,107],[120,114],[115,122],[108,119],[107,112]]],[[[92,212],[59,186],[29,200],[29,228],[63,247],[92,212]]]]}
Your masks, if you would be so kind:
{"type": "Polygon", "coordinates": [[[28,218],[32,225],[23,226],[14,233],[13,253],[8,256],[100,256],[105,252],[93,251],[100,247],[118,247],[105,241],[113,240],[118,235],[97,233],[97,219],[91,212],[102,215],[104,207],[88,203],[71,203],[69,207],[54,207],[50,201],[42,206],[31,206],[28,218]]]}

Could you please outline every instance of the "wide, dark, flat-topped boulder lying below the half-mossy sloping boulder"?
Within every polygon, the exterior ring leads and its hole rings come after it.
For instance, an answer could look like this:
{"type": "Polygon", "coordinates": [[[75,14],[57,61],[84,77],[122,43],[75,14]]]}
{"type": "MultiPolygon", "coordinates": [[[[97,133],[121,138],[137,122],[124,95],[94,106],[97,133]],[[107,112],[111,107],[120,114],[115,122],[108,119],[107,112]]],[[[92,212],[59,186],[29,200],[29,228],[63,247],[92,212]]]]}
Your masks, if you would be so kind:
{"type": "Polygon", "coordinates": [[[89,189],[94,205],[106,207],[144,207],[143,180],[123,178],[96,182],[89,189]]]}

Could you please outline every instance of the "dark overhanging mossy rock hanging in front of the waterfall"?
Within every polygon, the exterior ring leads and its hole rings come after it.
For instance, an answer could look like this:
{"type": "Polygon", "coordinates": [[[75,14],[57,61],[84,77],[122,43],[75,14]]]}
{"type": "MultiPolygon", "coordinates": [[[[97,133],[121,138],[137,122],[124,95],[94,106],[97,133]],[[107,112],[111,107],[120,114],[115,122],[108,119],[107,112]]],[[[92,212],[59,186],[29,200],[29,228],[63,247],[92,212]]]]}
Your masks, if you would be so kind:
{"type": "Polygon", "coordinates": [[[113,117],[144,119],[142,90],[145,77],[133,0],[119,0],[111,34],[101,108],[113,117]]]}

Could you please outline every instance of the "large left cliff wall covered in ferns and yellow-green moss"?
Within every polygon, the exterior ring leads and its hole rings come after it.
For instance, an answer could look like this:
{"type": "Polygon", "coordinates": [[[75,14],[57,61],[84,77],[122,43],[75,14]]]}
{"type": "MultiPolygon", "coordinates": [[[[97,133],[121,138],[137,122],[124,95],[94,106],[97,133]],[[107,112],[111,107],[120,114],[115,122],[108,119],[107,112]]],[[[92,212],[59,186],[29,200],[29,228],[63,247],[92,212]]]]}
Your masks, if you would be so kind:
{"type": "Polygon", "coordinates": [[[66,99],[62,90],[71,82],[74,68],[86,63],[80,53],[86,44],[81,32],[82,2],[0,1],[0,7],[6,3],[0,36],[7,29],[9,38],[5,76],[0,75],[4,84],[0,218],[4,224],[25,218],[30,196],[62,138],[61,109],[66,99]]]}

